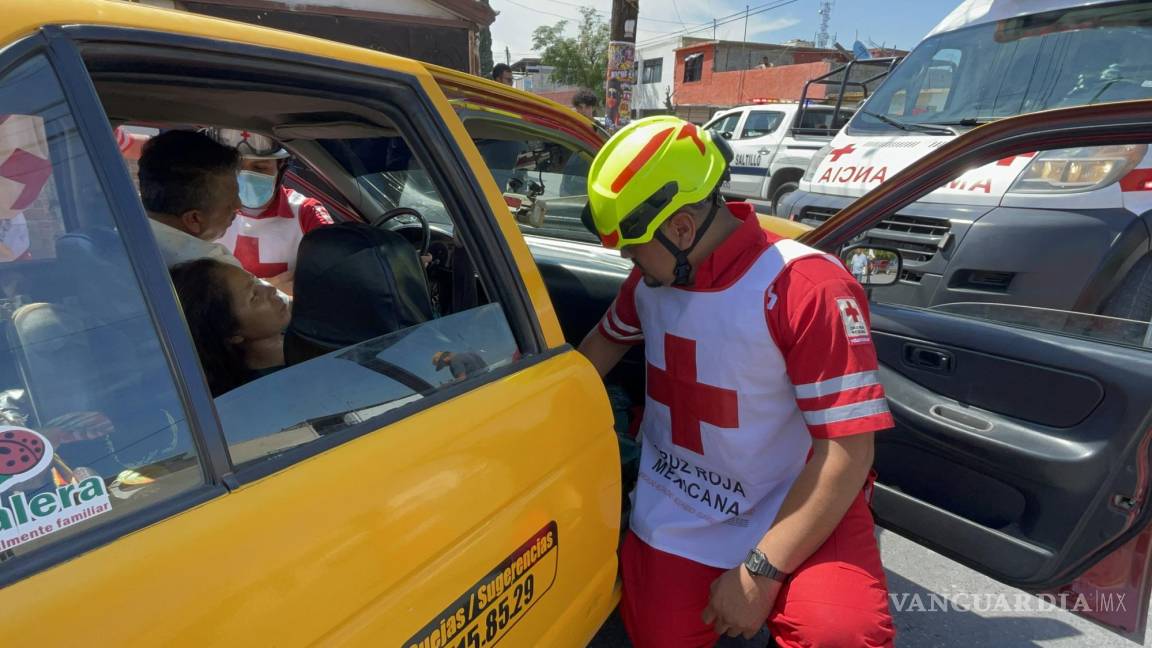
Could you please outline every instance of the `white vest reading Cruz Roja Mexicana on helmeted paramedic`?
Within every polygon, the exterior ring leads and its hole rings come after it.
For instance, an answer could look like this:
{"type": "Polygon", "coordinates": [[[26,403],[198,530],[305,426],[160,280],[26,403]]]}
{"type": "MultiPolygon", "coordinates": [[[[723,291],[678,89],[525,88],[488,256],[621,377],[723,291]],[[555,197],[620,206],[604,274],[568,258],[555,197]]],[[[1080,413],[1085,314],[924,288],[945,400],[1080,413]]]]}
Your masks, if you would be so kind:
{"type": "Polygon", "coordinates": [[[783,240],[720,291],[637,286],[647,397],[631,527],[649,545],[730,568],[775,521],[811,436],[768,331],[766,293],[809,256],[839,264],[783,240]]]}

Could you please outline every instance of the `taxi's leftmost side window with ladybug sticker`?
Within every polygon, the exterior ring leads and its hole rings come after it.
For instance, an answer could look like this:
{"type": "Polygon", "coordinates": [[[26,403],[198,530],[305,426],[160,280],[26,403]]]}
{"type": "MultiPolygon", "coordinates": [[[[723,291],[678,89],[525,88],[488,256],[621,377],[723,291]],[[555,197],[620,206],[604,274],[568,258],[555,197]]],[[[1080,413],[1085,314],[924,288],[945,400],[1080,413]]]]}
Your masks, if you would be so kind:
{"type": "Polygon", "coordinates": [[[41,56],[0,74],[0,241],[2,580],[203,477],[107,196],[41,56]]]}

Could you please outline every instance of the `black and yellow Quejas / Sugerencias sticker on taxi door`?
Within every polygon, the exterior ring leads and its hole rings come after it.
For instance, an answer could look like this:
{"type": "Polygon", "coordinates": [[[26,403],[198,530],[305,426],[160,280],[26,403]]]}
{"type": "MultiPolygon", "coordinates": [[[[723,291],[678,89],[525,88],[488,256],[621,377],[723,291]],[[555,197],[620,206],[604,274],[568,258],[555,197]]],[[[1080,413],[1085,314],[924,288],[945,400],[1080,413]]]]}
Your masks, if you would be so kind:
{"type": "Polygon", "coordinates": [[[484,648],[498,643],[556,580],[556,523],[548,522],[495,566],[404,648],[484,648]]]}

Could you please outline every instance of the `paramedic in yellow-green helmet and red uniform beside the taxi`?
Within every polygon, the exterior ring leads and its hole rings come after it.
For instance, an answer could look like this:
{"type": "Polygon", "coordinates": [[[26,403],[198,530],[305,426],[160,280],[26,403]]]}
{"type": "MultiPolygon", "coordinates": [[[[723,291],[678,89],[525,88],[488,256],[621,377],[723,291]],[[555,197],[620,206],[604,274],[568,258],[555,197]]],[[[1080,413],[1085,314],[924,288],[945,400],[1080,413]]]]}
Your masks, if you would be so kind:
{"type": "Polygon", "coordinates": [[[719,186],[732,152],[672,116],[600,150],[585,223],[635,269],[581,345],[645,345],[642,466],[621,549],[638,648],[767,623],[780,647],[892,646],[867,504],[892,416],[866,299],[839,259],[764,232],[719,186]]]}

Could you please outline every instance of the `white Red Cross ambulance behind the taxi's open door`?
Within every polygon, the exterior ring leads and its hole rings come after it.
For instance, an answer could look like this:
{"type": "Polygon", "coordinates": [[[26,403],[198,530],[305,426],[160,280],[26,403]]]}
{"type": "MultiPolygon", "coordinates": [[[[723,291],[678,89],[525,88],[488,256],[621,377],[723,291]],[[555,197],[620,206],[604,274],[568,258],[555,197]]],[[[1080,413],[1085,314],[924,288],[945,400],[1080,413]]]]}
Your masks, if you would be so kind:
{"type": "MultiPolygon", "coordinates": [[[[1003,118],[1152,97],[1149,52],[1152,2],[968,0],[816,155],[778,216],[819,225],[960,134],[1003,118]]],[[[1146,322],[1150,210],[1145,145],[1008,157],[970,169],[865,234],[904,259],[900,280],[874,296],[1146,322]],[[1020,241],[1024,228],[1029,244],[1005,243],[1020,241]]]]}

